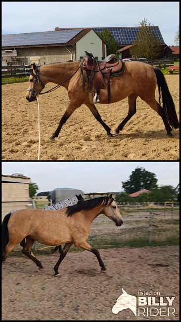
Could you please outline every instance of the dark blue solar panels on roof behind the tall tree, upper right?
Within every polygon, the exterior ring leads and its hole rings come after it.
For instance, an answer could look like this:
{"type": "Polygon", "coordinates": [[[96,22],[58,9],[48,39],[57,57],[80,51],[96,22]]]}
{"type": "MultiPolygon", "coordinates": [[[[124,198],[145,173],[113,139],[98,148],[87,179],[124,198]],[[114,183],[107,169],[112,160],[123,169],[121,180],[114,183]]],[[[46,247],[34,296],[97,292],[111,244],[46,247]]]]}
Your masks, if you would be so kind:
{"type": "MultiPolygon", "coordinates": [[[[102,32],[103,30],[109,30],[113,34],[115,40],[120,44],[120,45],[125,45],[125,44],[133,44],[136,34],[139,31],[140,27],[107,27],[107,28],[93,28],[95,32],[102,32]]],[[[156,36],[159,39],[160,43],[164,43],[163,37],[161,35],[161,32],[159,30],[159,27],[153,26],[153,31],[155,32],[156,36]]]]}

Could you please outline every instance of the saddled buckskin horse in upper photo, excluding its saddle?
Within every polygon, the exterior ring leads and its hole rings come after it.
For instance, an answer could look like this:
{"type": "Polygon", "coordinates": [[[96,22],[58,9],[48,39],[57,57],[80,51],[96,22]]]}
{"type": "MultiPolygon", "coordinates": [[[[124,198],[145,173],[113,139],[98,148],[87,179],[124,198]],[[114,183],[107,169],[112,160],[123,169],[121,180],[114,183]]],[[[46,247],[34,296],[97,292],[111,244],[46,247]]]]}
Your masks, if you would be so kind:
{"type": "MultiPolygon", "coordinates": [[[[44,94],[41,92],[48,82],[59,84],[55,88],[60,85],[65,87],[70,99],[69,105],[61,117],[56,131],[50,137],[51,141],[54,141],[54,138],[58,137],[63,124],[75,109],[82,104],[85,104],[90,109],[96,120],[106,130],[107,135],[112,136],[110,127],[102,120],[95,105],[90,103],[89,92],[83,87],[83,80],[80,76],[79,69],[79,61],[54,63],[41,67],[37,67],[35,63],[32,64],[29,88],[26,93],[28,102],[33,102],[38,95],[44,94]]],[[[100,90],[100,104],[107,104],[107,79],[105,79],[105,85],[106,88],[100,90]]],[[[110,86],[110,103],[119,102],[128,97],[129,104],[128,115],[115,129],[114,134],[118,134],[136,113],[136,99],[138,96],[161,116],[169,136],[172,136],[171,131],[173,128],[177,129],[179,127],[179,120],[172,96],[165,77],[159,68],[152,67],[140,61],[125,62],[125,73],[111,77],[110,86]],[[159,103],[155,100],[156,85],[158,85],[159,90],[159,103]],[[161,107],[161,94],[163,107],[161,107]]]]}

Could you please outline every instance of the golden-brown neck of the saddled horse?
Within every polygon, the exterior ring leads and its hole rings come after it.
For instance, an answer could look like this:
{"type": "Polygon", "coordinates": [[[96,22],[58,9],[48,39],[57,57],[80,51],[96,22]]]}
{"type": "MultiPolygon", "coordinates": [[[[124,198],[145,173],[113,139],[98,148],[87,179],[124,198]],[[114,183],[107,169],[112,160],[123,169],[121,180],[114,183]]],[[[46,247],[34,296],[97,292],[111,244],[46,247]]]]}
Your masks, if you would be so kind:
{"type": "MultiPolygon", "coordinates": [[[[51,82],[54,84],[61,84],[74,74],[79,67],[79,62],[65,62],[52,65],[44,65],[40,68],[41,81],[45,84],[51,82]]],[[[68,87],[69,81],[62,84],[65,88],[68,87]]]]}

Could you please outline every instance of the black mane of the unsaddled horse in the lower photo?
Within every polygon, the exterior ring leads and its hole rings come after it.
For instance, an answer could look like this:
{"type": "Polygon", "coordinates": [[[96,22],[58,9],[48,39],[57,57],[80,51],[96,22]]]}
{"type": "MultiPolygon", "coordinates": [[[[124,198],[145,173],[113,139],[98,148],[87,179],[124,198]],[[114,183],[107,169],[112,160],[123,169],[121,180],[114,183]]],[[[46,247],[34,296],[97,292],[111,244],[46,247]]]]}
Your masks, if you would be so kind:
{"type": "MultiPolygon", "coordinates": [[[[111,202],[114,199],[112,198],[111,202]]],[[[75,213],[80,212],[81,210],[89,210],[96,206],[100,206],[101,204],[107,205],[109,202],[109,197],[98,197],[89,200],[79,201],[76,205],[67,207],[67,215],[68,217],[72,216],[75,213]]]]}

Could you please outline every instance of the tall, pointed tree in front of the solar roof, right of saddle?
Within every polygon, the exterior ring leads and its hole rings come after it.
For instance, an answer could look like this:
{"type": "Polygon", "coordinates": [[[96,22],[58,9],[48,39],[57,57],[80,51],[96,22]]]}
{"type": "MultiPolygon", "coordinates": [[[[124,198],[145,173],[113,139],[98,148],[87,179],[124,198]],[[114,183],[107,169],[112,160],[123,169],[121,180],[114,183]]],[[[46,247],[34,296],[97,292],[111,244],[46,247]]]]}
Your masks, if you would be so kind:
{"type": "Polygon", "coordinates": [[[144,18],[139,22],[140,28],[134,40],[134,46],[130,53],[137,57],[145,57],[148,60],[154,60],[161,53],[159,39],[156,36],[153,26],[144,18]]]}

